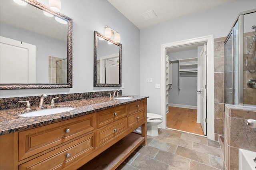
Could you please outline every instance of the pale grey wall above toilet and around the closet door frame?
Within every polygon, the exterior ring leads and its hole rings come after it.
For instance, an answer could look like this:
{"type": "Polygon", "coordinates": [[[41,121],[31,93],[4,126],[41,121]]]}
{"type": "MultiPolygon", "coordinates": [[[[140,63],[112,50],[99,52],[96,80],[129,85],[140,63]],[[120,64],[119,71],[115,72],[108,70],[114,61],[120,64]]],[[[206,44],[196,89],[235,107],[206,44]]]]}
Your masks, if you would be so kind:
{"type": "Polygon", "coordinates": [[[161,114],[161,45],[214,34],[227,36],[239,12],[256,8],[255,0],[236,0],[210,10],[140,30],[140,95],[148,95],[148,112],[161,114]],[[146,77],[152,77],[148,84],[146,77]]]}

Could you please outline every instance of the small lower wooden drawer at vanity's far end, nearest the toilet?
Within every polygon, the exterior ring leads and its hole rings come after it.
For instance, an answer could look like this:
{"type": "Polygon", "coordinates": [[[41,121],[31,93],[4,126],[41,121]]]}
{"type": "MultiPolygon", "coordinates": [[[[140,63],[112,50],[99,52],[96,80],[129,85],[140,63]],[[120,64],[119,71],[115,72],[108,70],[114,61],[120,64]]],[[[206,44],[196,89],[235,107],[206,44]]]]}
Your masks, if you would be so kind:
{"type": "Polygon", "coordinates": [[[138,127],[145,122],[144,110],[128,117],[128,128],[138,127]]]}

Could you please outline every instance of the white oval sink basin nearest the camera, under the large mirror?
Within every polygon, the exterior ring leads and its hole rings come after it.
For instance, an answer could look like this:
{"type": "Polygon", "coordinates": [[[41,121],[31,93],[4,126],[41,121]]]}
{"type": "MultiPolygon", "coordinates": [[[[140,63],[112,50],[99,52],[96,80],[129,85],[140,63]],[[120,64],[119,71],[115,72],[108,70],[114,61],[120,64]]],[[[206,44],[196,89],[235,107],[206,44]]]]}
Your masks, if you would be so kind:
{"type": "Polygon", "coordinates": [[[53,115],[56,113],[62,113],[62,112],[67,112],[67,111],[72,111],[73,107],[56,107],[52,109],[42,109],[38,111],[31,111],[28,113],[21,114],[19,116],[21,117],[35,117],[35,116],[45,116],[45,115],[53,115]]]}

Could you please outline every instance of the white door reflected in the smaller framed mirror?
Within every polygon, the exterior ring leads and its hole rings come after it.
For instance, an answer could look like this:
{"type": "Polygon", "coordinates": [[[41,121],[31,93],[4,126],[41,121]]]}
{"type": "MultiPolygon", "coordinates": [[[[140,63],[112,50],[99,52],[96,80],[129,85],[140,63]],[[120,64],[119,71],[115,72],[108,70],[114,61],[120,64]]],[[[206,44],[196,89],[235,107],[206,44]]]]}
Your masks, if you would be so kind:
{"type": "Polygon", "coordinates": [[[119,84],[119,63],[111,60],[106,61],[106,83],[119,84]]]}

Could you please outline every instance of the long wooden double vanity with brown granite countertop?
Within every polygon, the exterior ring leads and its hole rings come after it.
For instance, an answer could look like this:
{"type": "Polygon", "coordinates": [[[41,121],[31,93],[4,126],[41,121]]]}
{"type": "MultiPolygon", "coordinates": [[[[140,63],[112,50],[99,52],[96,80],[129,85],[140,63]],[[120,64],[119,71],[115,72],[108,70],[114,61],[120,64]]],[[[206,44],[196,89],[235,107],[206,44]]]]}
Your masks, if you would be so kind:
{"type": "Polygon", "coordinates": [[[20,116],[30,112],[24,108],[0,110],[0,169],[115,169],[146,144],[146,100],[68,101],[54,108],[73,110],[35,117],[20,116]],[[132,132],[139,126],[142,134],[132,132]]]}

